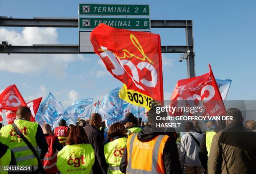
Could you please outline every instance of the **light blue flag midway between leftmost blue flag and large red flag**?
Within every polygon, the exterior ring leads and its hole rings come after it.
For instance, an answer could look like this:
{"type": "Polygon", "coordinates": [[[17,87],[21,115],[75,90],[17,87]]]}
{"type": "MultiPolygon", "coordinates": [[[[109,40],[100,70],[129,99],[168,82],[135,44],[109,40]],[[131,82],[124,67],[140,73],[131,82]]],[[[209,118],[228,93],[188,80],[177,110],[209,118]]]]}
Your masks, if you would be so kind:
{"type": "Polygon", "coordinates": [[[92,113],[93,99],[80,99],[73,103],[71,107],[66,109],[67,113],[73,120],[78,118],[89,119],[92,113]]]}

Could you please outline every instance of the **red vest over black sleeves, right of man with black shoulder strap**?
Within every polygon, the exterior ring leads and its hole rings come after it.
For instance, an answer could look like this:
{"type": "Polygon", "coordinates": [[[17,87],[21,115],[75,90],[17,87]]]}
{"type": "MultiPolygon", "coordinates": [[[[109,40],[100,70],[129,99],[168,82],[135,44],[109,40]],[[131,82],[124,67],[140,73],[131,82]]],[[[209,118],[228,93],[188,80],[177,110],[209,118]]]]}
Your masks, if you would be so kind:
{"type": "Polygon", "coordinates": [[[49,145],[48,152],[44,156],[43,167],[47,174],[56,174],[59,172],[57,169],[57,152],[53,149],[53,144],[56,140],[54,135],[46,135],[46,142],[49,145]]]}

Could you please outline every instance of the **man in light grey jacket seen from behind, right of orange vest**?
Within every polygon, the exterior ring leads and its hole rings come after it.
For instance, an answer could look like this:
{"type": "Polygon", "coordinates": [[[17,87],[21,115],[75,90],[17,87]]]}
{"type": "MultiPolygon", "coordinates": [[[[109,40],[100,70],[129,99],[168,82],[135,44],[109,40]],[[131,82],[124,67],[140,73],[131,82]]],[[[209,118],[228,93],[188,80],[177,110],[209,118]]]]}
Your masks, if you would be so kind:
{"type": "Polygon", "coordinates": [[[198,157],[202,134],[195,132],[192,122],[185,124],[187,134],[184,134],[180,140],[180,163],[186,164],[187,174],[202,174],[202,166],[198,157]]]}

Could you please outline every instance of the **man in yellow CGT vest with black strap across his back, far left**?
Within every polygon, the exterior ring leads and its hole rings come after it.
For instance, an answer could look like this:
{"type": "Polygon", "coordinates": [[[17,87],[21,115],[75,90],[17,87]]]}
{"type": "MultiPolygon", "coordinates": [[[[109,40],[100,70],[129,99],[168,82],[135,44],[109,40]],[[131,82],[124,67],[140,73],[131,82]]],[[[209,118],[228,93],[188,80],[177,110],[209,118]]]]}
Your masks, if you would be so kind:
{"type": "MultiPolygon", "coordinates": [[[[48,151],[48,144],[40,125],[36,122],[28,121],[30,120],[30,117],[31,111],[28,107],[19,107],[16,112],[14,123],[34,147],[38,157],[44,159],[44,156],[48,151]],[[41,150],[41,154],[39,153],[38,147],[41,150]]],[[[32,173],[38,173],[39,168],[36,156],[17,134],[12,124],[2,127],[0,130],[0,142],[6,144],[10,150],[13,151],[18,166],[30,166],[32,173]]]]}

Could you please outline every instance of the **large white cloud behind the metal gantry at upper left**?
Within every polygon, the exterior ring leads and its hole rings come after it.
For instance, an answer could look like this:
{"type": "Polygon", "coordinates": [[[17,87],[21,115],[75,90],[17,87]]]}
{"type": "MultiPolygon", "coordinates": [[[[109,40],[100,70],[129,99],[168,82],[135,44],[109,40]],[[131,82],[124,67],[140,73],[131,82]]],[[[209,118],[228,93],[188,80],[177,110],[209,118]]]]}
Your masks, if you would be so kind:
{"type": "MultiPolygon", "coordinates": [[[[12,45],[58,44],[56,28],[24,27],[21,33],[0,28],[0,40],[12,45]]],[[[20,74],[65,75],[71,62],[90,61],[83,55],[73,54],[10,54],[1,55],[0,70],[20,74]]]]}

